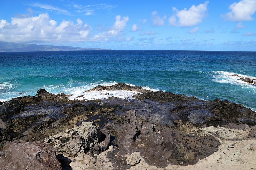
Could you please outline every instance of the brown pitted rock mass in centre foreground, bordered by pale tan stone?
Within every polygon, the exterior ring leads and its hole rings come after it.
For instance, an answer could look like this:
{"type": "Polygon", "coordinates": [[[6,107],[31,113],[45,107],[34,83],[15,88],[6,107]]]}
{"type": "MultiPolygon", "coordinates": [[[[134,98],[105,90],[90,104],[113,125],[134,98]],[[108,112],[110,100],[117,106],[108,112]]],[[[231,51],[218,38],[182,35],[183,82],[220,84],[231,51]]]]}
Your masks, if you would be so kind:
{"type": "Polygon", "coordinates": [[[115,161],[139,152],[146,163],[157,167],[166,167],[170,162],[178,164],[175,157],[182,157],[186,165],[194,164],[217,151],[220,145],[211,136],[188,135],[168,126],[138,121],[134,110],[127,112],[123,125],[106,124],[102,130],[116,134],[120,156],[115,161]]]}

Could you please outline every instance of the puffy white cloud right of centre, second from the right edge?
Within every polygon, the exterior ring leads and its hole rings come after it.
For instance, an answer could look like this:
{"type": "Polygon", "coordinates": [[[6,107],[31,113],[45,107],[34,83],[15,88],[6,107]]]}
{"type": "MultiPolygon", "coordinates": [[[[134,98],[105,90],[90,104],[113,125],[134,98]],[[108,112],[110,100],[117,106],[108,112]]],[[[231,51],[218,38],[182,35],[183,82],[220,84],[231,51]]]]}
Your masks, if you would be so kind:
{"type": "Polygon", "coordinates": [[[201,23],[202,19],[206,16],[208,3],[209,1],[205,1],[204,4],[199,4],[197,6],[193,5],[191,8],[189,8],[189,10],[184,8],[183,10],[179,11],[172,7],[172,11],[175,14],[169,18],[169,25],[190,27],[201,23]]]}

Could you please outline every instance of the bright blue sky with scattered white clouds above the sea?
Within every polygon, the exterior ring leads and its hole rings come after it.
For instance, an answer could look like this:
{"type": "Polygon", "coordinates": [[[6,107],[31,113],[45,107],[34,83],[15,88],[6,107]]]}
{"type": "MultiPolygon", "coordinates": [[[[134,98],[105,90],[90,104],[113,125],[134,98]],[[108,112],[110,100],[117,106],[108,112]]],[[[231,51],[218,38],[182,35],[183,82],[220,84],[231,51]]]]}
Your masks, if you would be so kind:
{"type": "Polygon", "coordinates": [[[256,0],[0,0],[0,41],[113,50],[256,51],[256,0]]]}

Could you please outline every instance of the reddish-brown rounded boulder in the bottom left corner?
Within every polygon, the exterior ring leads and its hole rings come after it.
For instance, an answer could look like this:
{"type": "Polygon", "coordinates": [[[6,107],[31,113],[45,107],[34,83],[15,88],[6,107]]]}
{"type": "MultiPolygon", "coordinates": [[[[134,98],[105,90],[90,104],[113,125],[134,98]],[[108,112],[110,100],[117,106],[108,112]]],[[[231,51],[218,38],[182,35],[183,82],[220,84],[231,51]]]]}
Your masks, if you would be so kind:
{"type": "Polygon", "coordinates": [[[61,170],[55,149],[43,141],[7,142],[0,150],[0,169],[61,170]]]}

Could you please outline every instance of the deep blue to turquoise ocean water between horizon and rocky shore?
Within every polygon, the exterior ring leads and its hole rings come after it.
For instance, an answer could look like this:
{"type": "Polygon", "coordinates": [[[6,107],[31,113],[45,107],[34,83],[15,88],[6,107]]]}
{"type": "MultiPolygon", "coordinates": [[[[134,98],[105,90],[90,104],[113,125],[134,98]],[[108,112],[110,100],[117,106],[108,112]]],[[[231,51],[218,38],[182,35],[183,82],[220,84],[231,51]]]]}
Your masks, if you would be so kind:
{"type": "Polygon", "coordinates": [[[0,101],[35,95],[79,94],[97,85],[127,83],[152,90],[228,100],[256,110],[256,52],[51,51],[1,52],[0,101]]]}

